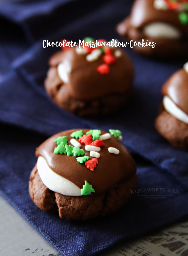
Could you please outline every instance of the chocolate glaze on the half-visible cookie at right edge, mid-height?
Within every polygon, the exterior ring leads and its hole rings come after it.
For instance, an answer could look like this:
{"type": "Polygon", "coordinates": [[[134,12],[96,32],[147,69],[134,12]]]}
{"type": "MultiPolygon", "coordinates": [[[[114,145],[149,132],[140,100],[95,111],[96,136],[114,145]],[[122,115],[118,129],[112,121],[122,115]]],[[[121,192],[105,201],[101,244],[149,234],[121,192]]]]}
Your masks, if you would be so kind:
{"type": "Polygon", "coordinates": [[[180,69],[174,73],[162,87],[162,94],[188,115],[188,73],[180,69]]]}

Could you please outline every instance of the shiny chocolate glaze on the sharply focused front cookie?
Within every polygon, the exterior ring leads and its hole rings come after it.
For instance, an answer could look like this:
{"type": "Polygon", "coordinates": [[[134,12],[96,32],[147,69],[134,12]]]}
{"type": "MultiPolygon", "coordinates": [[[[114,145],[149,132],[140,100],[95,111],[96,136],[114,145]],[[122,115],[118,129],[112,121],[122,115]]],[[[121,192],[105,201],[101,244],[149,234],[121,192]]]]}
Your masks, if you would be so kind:
{"type": "MultiPolygon", "coordinates": [[[[135,175],[136,165],[133,158],[127,148],[112,135],[110,139],[103,141],[104,146],[101,146],[99,151],[101,154],[98,159],[99,163],[94,171],[89,170],[85,163],[78,163],[74,156],[53,153],[54,148],[57,146],[57,143],[54,142],[55,139],[60,136],[67,136],[68,144],[70,144],[70,139],[72,139],[70,134],[78,130],[80,129],[53,135],[37,148],[36,156],[43,156],[54,172],[72,181],[80,189],[83,188],[85,181],[87,181],[95,189],[95,194],[104,193],[119,182],[135,175]],[[115,147],[120,153],[118,155],[109,153],[108,147],[115,147]]],[[[85,134],[89,130],[82,129],[82,131],[85,134]]],[[[101,135],[105,133],[105,131],[101,131],[101,135]]],[[[90,152],[85,150],[85,145],[82,144],[80,148],[85,151],[84,156],[90,156],[90,152]]],[[[92,159],[91,156],[90,159],[92,159]]]]}

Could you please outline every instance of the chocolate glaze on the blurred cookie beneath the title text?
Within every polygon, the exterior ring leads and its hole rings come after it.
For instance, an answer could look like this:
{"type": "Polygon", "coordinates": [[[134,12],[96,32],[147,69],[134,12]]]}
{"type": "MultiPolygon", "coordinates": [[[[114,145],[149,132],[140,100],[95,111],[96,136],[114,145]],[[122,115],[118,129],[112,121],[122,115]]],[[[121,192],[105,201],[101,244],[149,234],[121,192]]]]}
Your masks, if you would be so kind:
{"type": "MultiPolygon", "coordinates": [[[[118,48],[112,49],[116,51],[118,48]]],[[[53,55],[49,64],[57,67],[60,62],[70,67],[69,82],[64,84],[68,94],[79,100],[91,100],[115,92],[125,92],[132,86],[133,65],[129,57],[122,55],[110,65],[110,73],[101,75],[97,67],[103,64],[103,54],[95,61],[87,61],[86,55],[76,53],[75,48],[53,55]],[[88,89],[89,88],[89,89],[88,89]]]]}

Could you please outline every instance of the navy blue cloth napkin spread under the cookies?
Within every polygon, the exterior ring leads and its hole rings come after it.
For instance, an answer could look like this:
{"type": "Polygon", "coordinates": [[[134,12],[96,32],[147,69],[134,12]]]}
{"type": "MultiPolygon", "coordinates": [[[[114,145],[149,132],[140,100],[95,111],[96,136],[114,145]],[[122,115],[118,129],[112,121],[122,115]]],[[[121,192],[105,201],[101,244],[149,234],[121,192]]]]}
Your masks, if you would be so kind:
{"type": "Polygon", "coordinates": [[[170,146],[154,129],[161,86],[183,61],[171,56],[165,61],[146,59],[124,49],[135,66],[134,96],[122,112],[105,118],[67,113],[43,88],[47,61],[59,50],[42,48],[43,39],[121,40],[115,25],[128,15],[131,4],[131,0],[0,2],[0,193],[65,256],[94,255],[188,214],[188,153],[170,146]],[[35,207],[28,180],[36,162],[35,148],[47,136],[81,127],[122,131],[123,143],[138,166],[137,193],[110,216],[67,222],[35,207]]]}

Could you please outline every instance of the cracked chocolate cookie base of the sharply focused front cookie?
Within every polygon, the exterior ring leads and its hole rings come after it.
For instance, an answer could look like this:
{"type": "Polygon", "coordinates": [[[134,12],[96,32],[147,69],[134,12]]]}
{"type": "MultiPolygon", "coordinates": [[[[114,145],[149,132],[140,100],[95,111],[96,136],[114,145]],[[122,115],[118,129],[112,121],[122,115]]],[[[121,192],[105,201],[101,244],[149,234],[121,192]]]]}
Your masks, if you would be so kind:
{"type": "Polygon", "coordinates": [[[30,175],[29,193],[35,205],[45,212],[59,210],[60,218],[87,220],[118,210],[128,201],[131,189],[135,189],[136,184],[137,176],[134,175],[101,195],[66,196],[48,189],[41,181],[35,165],[30,175]]]}

